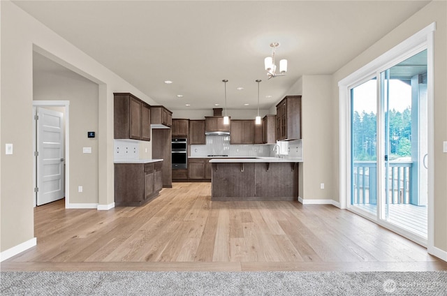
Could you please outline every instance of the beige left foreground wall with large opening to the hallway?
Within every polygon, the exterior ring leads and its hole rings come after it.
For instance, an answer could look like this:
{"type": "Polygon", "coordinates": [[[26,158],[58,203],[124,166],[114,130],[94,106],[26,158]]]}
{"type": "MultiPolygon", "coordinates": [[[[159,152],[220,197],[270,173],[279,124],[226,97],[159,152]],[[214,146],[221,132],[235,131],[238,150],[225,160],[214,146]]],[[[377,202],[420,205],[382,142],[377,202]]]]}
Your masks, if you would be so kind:
{"type": "Polygon", "coordinates": [[[32,177],[33,50],[99,85],[99,205],[110,205],[114,200],[113,93],[131,92],[149,105],[160,104],[10,1],[0,1],[0,20],[0,251],[3,253],[22,243],[35,243],[32,177]],[[5,155],[6,143],[13,143],[13,155],[5,155]]]}

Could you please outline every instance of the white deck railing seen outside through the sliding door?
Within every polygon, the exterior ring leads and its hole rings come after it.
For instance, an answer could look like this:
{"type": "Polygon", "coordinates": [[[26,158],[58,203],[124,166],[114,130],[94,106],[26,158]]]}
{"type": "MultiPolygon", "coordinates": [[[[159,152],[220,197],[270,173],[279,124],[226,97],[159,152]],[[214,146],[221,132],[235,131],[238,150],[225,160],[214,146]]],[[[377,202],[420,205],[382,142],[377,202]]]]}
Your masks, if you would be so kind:
{"type": "MultiPolygon", "coordinates": [[[[411,200],[412,162],[390,161],[388,163],[388,204],[408,204],[411,200]]],[[[377,203],[377,163],[376,161],[354,161],[353,192],[351,203],[377,203]]]]}

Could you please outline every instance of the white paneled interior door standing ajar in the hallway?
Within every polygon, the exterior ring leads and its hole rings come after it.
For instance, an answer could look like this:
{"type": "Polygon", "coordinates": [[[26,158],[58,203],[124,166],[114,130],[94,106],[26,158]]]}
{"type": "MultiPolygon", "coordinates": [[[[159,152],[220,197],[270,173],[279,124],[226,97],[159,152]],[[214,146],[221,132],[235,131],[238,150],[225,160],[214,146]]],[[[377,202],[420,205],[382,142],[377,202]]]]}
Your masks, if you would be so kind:
{"type": "Polygon", "coordinates": [[[36,205],[64,198],[64,114],[37,108],[36,205]]]}

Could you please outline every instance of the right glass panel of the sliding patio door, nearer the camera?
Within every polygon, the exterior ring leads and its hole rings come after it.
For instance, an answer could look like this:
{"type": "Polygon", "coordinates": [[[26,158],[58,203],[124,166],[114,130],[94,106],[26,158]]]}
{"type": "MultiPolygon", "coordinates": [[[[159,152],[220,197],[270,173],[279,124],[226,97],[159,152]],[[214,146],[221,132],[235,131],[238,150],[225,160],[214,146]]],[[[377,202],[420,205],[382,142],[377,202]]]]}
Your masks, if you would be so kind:
{"type": "Polygon", "coordinates": [[[427,238],[427,51],[380,74],[384,192],[380,218],[427,238]]]}

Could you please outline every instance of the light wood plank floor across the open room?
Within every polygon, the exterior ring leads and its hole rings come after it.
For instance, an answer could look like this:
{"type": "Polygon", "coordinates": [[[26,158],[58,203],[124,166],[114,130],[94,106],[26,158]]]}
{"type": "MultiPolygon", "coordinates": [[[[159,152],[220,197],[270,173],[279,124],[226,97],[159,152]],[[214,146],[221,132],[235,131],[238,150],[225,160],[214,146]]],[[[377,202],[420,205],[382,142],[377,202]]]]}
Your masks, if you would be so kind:
{"type": "Polygon", "coordinates": [[[37,246],[1,270],[447,270],[422,246],[346,210],[211,202],[210,191],[174,183],[143,207],[36,207],[37,246]]]}

